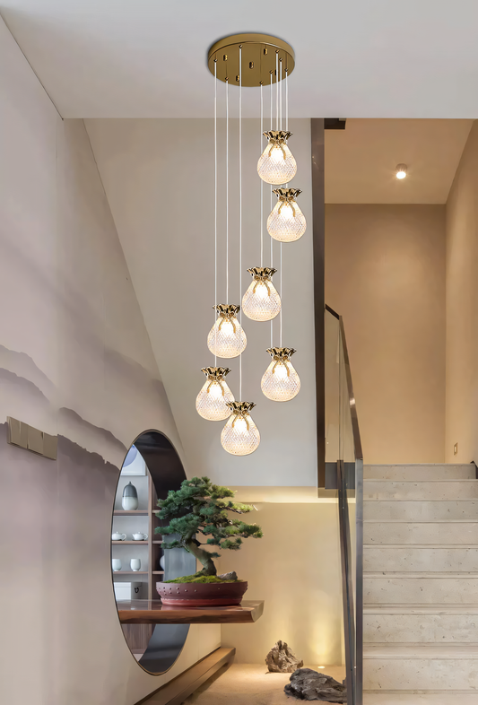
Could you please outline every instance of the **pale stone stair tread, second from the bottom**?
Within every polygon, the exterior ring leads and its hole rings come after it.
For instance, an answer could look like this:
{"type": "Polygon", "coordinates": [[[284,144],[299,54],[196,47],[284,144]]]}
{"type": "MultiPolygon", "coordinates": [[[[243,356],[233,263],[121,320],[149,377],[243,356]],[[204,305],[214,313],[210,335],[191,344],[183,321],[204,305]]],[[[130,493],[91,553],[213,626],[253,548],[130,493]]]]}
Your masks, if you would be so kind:
{"type": "Polygon", "coordinates": [[[364,658],[478,659],[478,644],[364,644],[364,658]]]}

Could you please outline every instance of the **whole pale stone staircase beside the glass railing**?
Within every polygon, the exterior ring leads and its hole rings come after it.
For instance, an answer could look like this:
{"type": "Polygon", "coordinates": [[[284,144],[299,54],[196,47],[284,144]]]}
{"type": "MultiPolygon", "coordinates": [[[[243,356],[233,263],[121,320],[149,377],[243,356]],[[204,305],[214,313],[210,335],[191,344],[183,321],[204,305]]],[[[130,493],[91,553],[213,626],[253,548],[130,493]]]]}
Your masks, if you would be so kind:
{"type": "Polygon", "coordinates": [[[365,705],[478,705],[476,466],[364,466],[363,485],[365,705]]]}

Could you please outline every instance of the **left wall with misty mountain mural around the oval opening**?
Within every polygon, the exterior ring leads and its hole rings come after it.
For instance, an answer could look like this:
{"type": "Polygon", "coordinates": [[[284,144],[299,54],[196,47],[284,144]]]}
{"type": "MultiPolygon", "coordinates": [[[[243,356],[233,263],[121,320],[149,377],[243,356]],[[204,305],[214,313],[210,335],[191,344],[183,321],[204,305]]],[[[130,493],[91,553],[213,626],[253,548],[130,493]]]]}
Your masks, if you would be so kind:
{"type": "Polygon", "coordinates": [[[0,63],[0,701],[131,705],[220,632],[193,628],[161,677],[123,639],[119,467],[145,429],[183,451],[83,122],[58,117],[1,21],[0,63]],[[7,445],[6,415],[57,432],[57,462],[7,445]]]}

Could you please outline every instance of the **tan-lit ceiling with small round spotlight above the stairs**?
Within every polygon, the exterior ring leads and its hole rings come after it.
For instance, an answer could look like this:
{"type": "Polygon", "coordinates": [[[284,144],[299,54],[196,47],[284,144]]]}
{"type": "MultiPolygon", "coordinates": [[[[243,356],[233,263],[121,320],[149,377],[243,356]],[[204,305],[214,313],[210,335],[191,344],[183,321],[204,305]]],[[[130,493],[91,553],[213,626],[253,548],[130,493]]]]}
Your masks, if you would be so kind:
{"type": "Polygon", "coordinates": [[[326,130],[326,203],[445,204],[473,120],[347,120],[326,130]],[[395,178],[397,164],[407,177],[395,178]]]}

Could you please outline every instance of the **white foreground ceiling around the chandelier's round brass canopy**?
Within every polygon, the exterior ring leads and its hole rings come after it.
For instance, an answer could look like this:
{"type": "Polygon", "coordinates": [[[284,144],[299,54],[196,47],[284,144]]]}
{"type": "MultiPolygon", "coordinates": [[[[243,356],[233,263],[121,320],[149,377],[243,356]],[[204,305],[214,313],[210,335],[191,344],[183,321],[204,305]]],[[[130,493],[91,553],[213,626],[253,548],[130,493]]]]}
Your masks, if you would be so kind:
{"type": "Polygon", "coordinates": [[[206,50],[239,31],[295,49],[291,116],[478,115],[476,0],[0,0],[0,13],[64,117],[211,117],[206,50]]]}

